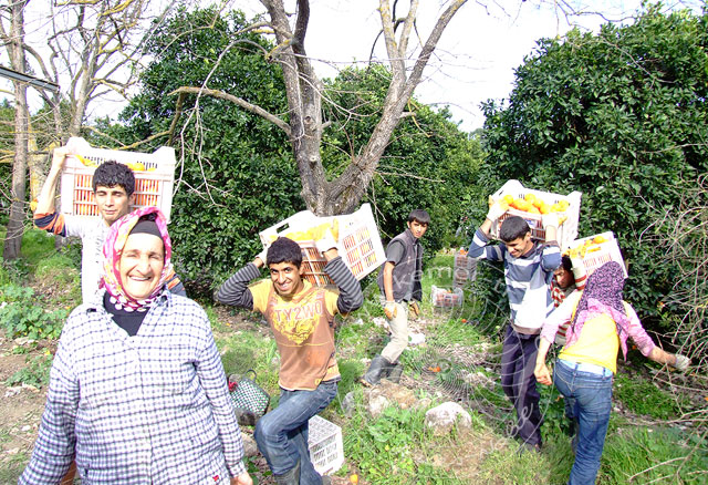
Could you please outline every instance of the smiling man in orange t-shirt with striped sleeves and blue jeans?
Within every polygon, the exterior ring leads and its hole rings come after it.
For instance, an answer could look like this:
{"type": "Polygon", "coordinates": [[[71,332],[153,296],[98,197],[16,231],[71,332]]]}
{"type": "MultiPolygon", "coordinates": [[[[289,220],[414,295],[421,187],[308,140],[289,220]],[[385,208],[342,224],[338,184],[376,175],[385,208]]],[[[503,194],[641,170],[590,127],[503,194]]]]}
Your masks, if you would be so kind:
{"type": "Polygon", "coordinates": [[[341,379],[334,357],[334,316],[364,302],[362,288],[337,255],[329,230],[316,248],[324,254],[324,272],[339,291],[304,280],[300,245],[280,237],[217,292],[217,300],[225,305],[262,313],[278,343],[280,401],[258,420],[254,437],[279,485],[323,482],[310,460],[308,421],[334,399],[341,379]],[[249,287],[263,265],[270,279],[249,287]]]}

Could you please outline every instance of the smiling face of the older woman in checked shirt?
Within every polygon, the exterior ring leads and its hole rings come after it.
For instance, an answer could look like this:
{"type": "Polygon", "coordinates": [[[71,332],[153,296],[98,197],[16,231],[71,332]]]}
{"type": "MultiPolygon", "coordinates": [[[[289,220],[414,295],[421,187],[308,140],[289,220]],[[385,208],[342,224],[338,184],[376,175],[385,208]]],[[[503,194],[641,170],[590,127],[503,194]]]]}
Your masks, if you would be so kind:
{"type": "Polygon", "coordinates": [[[163,239],[152,234],[128,236],[121,254],[121,282],[126,295],[135,300],[149,297],[159,283],[165,266],[163,239]]]}

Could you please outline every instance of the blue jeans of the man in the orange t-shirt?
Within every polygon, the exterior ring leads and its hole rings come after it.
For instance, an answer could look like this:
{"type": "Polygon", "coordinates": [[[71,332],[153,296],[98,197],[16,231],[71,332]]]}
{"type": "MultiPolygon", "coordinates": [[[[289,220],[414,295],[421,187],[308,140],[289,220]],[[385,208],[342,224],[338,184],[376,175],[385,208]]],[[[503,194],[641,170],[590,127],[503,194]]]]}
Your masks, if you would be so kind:
{"type": "Polygon", "coordinates": [[[278,407],[256,423],[253,437],[273,475],[288,473],[300,462],[300,484],[321,485],[308,448],[308,421],[336,395],[339,381],[326,381],[314,391],[280,390],[278,407]]]}

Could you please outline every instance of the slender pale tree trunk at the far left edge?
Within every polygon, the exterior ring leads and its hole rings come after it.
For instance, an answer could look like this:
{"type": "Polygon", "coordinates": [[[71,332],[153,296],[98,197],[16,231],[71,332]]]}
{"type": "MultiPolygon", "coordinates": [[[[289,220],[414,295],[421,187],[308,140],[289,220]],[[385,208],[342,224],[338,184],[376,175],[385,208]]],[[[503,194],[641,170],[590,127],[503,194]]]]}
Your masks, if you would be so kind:
{"type": "MultiPolygon", "coordinates": [[[[12,41],[8,45],[12,69],[24,72],[25,60],[24,49],[24,8],[29,0],[15,1],[11,3],[12,14],[12,41]]],[[[27,186],[27,157],[28,157],[28,135],[30,127],[30,113],[27,105],[27,84],[14,81],[14,159],[12,161],[12,189],[10,219],[8,220],[8,233],[4,239],[6,260],[20,256],[22,245],[22,234],[24,233],[25,218],[25,186],[27,186]]]]}

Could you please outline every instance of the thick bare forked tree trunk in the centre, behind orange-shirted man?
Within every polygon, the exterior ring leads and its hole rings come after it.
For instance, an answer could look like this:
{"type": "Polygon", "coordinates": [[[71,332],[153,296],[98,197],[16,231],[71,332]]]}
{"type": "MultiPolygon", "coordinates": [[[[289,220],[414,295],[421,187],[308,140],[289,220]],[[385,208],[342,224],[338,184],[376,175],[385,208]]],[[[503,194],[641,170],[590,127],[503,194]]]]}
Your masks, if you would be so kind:
{"type": "MultiPolygon", "coordinates": [[[[180,95],[198,93],[227,99],[281,127],[292,144],[302,183],[302,198],[308,208],[319,215],[350,213],[365,194],[394,130],[402,117],[406,116],[404,109],[420,82],[423,71],[445,28],[466,2],[467,0],[448,2],[428,38],[421,41],[419,51],[416,51],[417,55],[409,60],[412,50],[409,43],[418,11],[418,0],[410,0],[407,13],[400,18],[392,14],[389,1],[379,1],[382,32],[393,74],[391,84],[381,120],[368,143],[360,154],[352,155],[348,166],[332,180],[326,177],[320,152],[323,131],[329,125],[322,117],[323,85],[305,51],[305,37],[310,21],[308,0],[296,0],[298,12],[292,27],[282,0],[261,0],[268,11],[269,27],[278,44],[267,55],[282,66],[289,105],[287,121],[236,95],[207,90],[206,86],[183,86],[175,93],[180,95]]],[[[397,3],[396,0],[394,10],[397,3]]]]}

